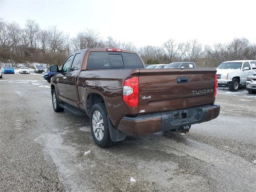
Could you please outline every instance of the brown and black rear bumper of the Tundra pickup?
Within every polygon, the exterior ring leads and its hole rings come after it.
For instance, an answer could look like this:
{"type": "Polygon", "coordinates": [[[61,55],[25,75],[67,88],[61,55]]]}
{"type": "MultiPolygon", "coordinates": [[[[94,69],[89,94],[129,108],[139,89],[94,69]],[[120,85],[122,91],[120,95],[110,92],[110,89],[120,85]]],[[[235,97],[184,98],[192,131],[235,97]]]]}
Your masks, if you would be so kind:
{"type": "Polygon", "coordinates": [[[210,121],[219,114],[219,105],[206,105],[137,117],[124,117],[118,130],[126,134],[144,135],[210,121]]]}

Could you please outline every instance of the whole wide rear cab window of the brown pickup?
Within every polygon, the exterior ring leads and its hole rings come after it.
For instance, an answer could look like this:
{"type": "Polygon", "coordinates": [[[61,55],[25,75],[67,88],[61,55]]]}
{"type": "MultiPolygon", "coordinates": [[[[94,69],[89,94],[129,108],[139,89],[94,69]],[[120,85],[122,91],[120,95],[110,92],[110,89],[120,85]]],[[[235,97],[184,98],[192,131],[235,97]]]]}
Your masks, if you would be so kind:
{"type": "Polygon", "coordinates": [[[87,69],[134,69],[144,68],[134,53],[90,52],[87,69]]]}

